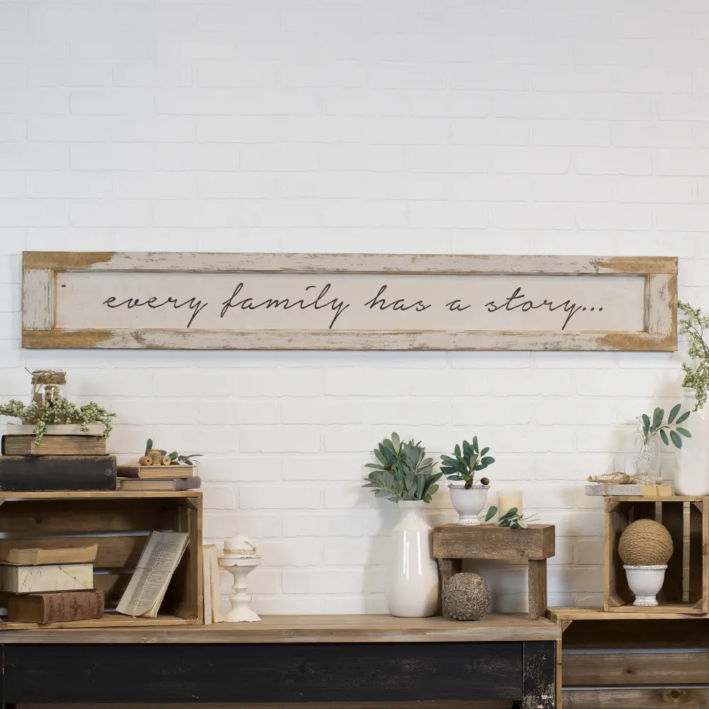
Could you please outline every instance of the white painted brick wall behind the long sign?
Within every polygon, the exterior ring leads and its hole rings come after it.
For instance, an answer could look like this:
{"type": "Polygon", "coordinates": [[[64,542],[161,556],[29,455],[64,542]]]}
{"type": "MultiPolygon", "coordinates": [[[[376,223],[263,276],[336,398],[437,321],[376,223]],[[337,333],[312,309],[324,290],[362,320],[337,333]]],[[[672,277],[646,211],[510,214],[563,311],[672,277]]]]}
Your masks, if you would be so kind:
{"type": "MultiPolygon", "coordinates": [[[[125,459],[204,452],[206,535],[259,542],[272,613],[385,610],[369,449],[477,433],[557,524],[552,603],[598,603],[580,481],[679,396],[681,356],[26,352],[19,253],[678,255],[709,308],[708,38],[702,0],[0,3],[0,396],[66,367],[125,459]]],[[[480,568],[523,607],[523,569],[480,568]]]]}

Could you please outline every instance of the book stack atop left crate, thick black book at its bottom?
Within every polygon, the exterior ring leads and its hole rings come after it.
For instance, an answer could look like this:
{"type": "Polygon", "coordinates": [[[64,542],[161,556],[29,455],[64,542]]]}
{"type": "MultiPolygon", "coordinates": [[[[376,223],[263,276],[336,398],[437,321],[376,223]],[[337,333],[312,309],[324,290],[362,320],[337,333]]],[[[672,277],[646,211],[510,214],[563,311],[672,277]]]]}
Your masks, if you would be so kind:
{"type": "Polygon", "coordinates": [[[8,424],[1,440],[0,491],[115,490],[116,458],[106,455],[103,425],[48,426],[37,445],[34,426],[8,424]]]}

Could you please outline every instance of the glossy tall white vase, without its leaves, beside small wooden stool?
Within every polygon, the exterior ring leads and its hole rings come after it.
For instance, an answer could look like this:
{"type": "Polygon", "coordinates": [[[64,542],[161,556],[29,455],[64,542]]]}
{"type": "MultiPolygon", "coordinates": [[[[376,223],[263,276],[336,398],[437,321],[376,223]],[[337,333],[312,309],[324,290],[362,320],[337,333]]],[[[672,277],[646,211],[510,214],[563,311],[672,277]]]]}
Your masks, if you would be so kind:
{"type": "Polygon", "coordinates": [[[386,603],[401,618],[425,618],[438,606],[438,566],[433,558],[433,529],[425,503],[399,502],[401,519],[391,530],[386,603]]]}

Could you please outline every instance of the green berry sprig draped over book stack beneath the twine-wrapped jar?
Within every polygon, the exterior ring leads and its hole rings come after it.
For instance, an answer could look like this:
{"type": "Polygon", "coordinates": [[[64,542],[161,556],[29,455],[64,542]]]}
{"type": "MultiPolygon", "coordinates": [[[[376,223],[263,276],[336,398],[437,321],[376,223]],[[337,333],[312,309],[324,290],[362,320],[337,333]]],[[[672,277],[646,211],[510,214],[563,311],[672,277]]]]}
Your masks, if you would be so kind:
{"type": "Polygon", "coordinates": [[[84,406],[77,406],[68,399],[60,398],[52,402],[31,403],[25,406],[17,399],[11,399],[0,406],[0,415],[18,418],[24,424],[34,425],[35,447],[40,445],[47,427],[55,424],[78,424],[82,431],[89,429],[92,423],[104,425],[104,435],[111,434],[111,418],[115,413],[109,413],[94,401],[84,406]]]}

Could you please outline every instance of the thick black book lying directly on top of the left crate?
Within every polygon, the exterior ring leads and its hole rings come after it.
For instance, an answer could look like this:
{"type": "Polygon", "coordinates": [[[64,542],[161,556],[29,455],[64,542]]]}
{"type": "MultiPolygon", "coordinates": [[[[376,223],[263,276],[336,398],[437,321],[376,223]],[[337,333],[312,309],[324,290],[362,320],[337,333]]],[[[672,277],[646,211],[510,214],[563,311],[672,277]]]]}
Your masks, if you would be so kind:
{"type": "Polygon", "coordinates": [[[4,455],[0,491],[115,490],[113,455],[4,455]]]}

